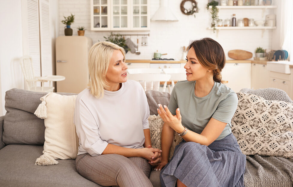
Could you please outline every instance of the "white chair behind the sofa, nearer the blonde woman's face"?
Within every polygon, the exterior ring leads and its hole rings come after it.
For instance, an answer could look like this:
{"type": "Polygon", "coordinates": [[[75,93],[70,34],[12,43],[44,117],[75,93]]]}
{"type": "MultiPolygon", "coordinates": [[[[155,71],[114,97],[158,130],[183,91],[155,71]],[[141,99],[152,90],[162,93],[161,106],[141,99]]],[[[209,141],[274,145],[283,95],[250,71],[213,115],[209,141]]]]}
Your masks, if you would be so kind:
{"type": "Polygon", "coordinates": [[[128,79],[135,80],[141,83],[144,91],[147,91],[147,83],[150,82],[150,89],[159,91],[160,81],[165,82],[163,91],[167,88],[167,81],[171,75],[162,73],[161,69],[155,68],[136,68],[127,69],[128,79]]]}

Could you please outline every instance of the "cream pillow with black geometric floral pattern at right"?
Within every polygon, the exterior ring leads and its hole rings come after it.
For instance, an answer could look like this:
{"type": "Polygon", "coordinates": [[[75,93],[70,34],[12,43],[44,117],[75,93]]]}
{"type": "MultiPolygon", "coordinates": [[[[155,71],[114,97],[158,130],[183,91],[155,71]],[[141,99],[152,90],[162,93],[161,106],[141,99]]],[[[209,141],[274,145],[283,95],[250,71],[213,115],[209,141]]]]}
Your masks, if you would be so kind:
{"type": "Polygon", "coordinates": [[[232,132],[245,155],[293,158],[293,104],[238,93],[232,132]]]}

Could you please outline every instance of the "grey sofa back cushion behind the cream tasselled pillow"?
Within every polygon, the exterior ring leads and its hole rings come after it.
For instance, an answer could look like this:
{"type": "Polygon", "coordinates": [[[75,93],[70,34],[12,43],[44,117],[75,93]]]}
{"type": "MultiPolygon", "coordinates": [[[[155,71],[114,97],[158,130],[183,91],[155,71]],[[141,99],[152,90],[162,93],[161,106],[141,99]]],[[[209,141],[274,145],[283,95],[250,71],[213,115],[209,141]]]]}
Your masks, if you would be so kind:
{"type": "MultiPolygon", "coordinates": [[[[13,88],[6,91],[6,115],[3,124],[2,141],[7,144],[43,145],[45,141],[44,120],[34,115],[41,103],[40,98],[47,93],[13,88]]],[[[59,93],[76,95],[75,93],[59,93]]]]}

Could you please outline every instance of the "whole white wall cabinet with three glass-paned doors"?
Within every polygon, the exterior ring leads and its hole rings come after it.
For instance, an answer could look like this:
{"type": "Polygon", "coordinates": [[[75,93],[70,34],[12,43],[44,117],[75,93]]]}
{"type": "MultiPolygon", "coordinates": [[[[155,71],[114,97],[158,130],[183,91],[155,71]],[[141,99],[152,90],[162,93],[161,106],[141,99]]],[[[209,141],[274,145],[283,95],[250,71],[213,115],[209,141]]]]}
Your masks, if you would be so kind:
{"type": "Polygon", "coordinates": [[[93,31],[147,31],[150,0],[90,0],[93,31]]]}

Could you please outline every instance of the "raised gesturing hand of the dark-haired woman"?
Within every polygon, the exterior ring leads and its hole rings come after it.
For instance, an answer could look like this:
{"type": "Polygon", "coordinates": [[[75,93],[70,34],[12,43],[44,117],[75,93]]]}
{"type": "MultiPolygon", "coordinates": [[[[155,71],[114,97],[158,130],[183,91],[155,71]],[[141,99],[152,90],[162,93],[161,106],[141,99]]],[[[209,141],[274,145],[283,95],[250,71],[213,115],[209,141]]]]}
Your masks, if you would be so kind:
{"type": "Polygon", "coordinates": [[[158,114],[160,114],[161,118],[167,123],[173,130],[176,132],[183,132],[184,127],[181,123],[181,115],[179,108],[176,109],[176,115],[173,116],[169,111],[168,107],[164,105],[164,108],[161,104],[159,104],[158,114]]]}

